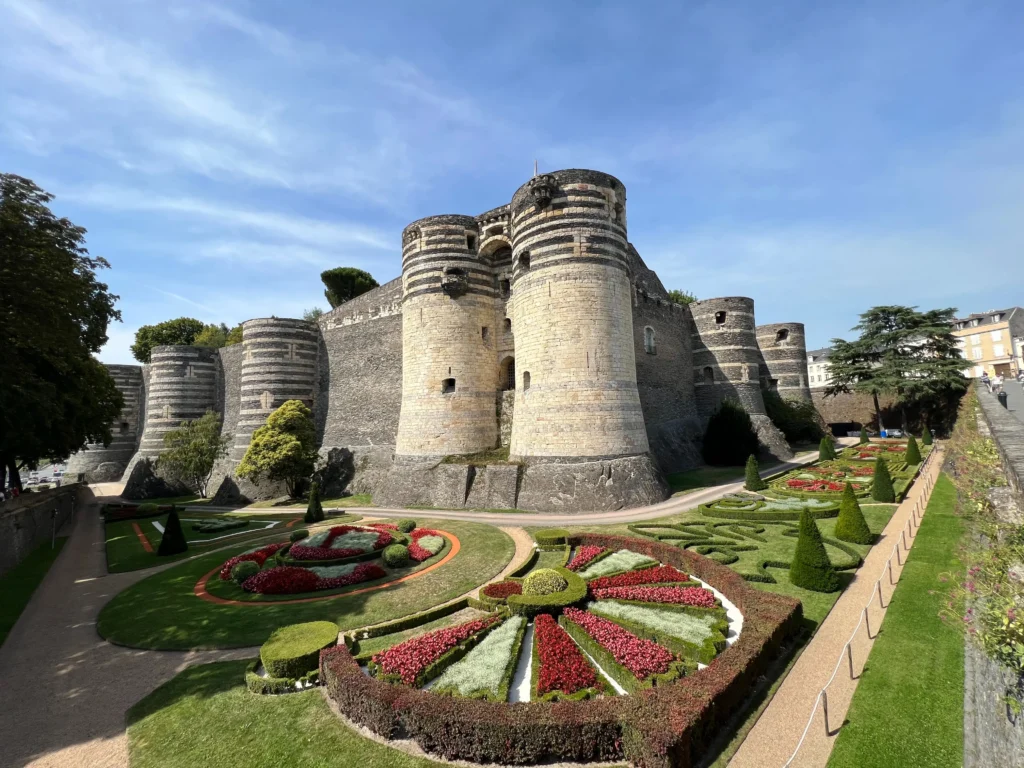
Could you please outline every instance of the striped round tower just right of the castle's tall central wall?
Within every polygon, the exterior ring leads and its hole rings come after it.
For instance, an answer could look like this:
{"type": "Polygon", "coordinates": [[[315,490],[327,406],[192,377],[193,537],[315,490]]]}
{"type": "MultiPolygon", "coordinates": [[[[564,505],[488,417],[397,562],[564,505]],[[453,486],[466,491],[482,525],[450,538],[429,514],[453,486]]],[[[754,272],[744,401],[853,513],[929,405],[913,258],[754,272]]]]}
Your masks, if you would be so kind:
{"type": "Polygon", "coordinates": [[[754,299],[730,296],[694,301],[693,384],[705,422],[726,399],[751,416],[765,413],[761,397],[761,350],[754,331],[754,299]]]}

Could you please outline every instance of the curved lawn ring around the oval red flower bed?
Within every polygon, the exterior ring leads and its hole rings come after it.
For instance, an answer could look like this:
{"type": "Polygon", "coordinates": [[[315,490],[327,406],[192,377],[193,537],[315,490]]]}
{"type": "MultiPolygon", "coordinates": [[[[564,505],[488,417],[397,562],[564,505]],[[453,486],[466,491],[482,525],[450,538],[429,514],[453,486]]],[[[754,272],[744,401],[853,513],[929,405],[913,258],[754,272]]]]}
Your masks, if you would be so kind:
{"type": "Polygon", "coordinates": [[[188,560],[129,587],[103,607],[97,629],[119,645],[158,650],[260,645],[278,627],[315,620],[334,622],[341,630],[356,629],[465,594],[497,575],[515,552],[512,540],[490,525],[418,522],[455,534],[462,549],[440,568],[388,589],[293,605],[217,605],[196,597],[193,589],[200,577],[248,549],[239,546],[188,560]]]}

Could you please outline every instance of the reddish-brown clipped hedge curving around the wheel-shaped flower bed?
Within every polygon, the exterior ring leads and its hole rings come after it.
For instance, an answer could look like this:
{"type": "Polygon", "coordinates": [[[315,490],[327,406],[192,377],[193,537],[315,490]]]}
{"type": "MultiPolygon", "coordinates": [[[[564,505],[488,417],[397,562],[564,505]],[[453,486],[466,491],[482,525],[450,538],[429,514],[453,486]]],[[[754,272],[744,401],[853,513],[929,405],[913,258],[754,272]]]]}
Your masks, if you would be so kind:
{"type": "Polygon", "coordinates": [[[722,592],[743,614],[743,632],[706,670],[638,696],[517,705],[436,696],[362,673],[346,646],[321,656],[322,679],[341,712],[384,738],[399,733],[449,760],[523,765],[629,760],[688,768],[707,749],[790,638],[799,601],[750,587],[730,568],[652,540],[583,534],[573,544],[630,549],[675,565],[722,592]]]}

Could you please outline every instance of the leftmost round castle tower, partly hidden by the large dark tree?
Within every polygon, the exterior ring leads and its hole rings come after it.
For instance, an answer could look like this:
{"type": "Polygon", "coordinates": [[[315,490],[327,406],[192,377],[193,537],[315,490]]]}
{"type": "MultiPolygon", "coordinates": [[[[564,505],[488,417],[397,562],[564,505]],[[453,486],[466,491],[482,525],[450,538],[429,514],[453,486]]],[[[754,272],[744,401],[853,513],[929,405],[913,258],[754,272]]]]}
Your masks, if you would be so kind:
{"type": "Polygon", "coordinates": [[[88,443],[68,460],[68,474],[85,474],[86,482],[118,480],[135,454],[142,426],[141,366],[106,366],[114,386],[124,397],[120,416],[111,424],[114,439],[110,445],[88,443]]]}

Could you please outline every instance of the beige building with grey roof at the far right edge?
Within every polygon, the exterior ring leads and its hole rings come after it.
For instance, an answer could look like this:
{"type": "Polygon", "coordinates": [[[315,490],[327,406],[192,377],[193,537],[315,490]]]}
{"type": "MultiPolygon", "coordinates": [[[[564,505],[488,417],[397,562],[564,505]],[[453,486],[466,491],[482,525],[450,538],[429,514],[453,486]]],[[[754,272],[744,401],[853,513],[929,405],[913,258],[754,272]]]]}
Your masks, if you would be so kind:
{"type": "Polygon", "coordinates": [[[991,309],[953,321],[953,336],[968,361],[964,375],[977,379],[989,376],[1017,376],[1024,371],[1024,309],[991,309]]]}

